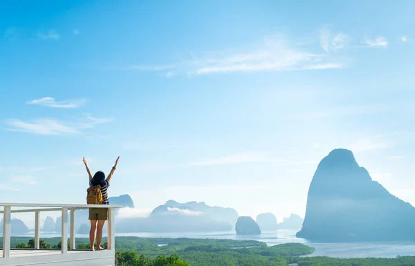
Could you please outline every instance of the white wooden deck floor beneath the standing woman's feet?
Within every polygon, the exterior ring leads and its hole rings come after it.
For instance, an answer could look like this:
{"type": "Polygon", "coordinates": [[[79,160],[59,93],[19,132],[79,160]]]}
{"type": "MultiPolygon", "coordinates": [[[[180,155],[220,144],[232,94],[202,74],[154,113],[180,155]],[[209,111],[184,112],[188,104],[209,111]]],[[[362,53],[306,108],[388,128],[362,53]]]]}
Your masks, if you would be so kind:
{"type": "Polygon", "coordinates": [[[68,250],[66,254],[62,254],[59,249],[14,249],[10,250],[10,258],[0,257],[0,265],[113,266],[114,253],[113,250],[68,250]]]}

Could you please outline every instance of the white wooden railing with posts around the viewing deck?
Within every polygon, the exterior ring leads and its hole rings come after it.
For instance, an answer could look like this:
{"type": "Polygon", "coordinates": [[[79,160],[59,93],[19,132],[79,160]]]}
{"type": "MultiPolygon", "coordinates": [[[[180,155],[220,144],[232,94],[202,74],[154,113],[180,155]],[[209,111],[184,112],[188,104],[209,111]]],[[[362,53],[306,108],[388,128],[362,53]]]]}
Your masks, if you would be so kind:
{"type": "Polygon", "coordinates": [[[62,254],[68,253],[68,211],[71,211],[70,249],[75,249],[75,211],[89,208],[108,209],[108,249],[114,250],[115,238],[115,209],[118,205],[73,205],[73,204],[30,204],[30,203],[0,203],[3,206],[3,258],[10,258],[10,222],[12,213],[35,213],[35,249],[39,249],[40,242],[40,213],[44,211],[62,212],[62,254]],[[12,209],[15,207],[36,209],[12,209]]]}

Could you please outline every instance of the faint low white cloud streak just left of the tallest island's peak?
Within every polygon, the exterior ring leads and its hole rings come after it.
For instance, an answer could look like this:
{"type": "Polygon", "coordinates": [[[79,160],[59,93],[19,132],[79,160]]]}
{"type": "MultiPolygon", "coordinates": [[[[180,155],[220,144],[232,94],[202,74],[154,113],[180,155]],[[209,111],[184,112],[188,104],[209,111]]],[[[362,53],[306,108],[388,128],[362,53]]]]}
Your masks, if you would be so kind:
{"type": "Polygon", "coordinates": [[[209,159],[205,161],[195,161],[189,163],[190,166],[214,166],[234,163],[273,163],[282,161],[271,157],[267,152],[239,152],[225,157],[209,159]]]}

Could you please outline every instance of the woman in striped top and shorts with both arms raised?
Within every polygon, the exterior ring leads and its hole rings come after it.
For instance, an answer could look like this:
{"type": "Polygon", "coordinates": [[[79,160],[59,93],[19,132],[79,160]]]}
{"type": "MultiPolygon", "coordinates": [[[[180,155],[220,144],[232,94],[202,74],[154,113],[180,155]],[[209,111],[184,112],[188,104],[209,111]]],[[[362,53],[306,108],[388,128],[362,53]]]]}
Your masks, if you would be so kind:
{"type": "MultiPolygon", "coordinates": [[[[86,159],[84,157],[83,161],[86,167],[86,172],[89,175],[89,186],[98,186],[101,187],[102,193],[102,204],[109,205],[108,200],[108,187],[109,183],[111,182],[112,175],[117,168],[118,160],[120,157],[117,158],[116,164],[109,172],[107,179],[105,179],[105,174],[102,171],[95,172],[95,175],[91,175],[91,171],[88,168],[88,164],[86,163],[86,159]]],[[[102,240],[102,228],[104,227],[104,223],[108,220],[108,209],[104,208],[90,208],[89,209],[89,220],[91,221],[91,230],[89,231],[89,242],[91,243],[91,251],[95,251],[93,244],[95,242],[95,231],[97,237],[97,249],[103,250],[101,247],[101,240],[102,240]]]]}

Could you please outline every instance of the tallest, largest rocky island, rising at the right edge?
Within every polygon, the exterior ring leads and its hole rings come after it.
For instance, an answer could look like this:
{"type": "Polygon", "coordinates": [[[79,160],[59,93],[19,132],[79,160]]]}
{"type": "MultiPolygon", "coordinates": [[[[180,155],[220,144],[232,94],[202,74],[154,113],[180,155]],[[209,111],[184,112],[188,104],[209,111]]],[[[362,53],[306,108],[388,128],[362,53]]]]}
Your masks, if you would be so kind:
{"type": "Polygon", "coordinates": [[[372,180],[350,150],[335,149],[320,161],[311,180],[297,237],[326,242],[414,240],[414,221],[411,204],[372,180]]]}

